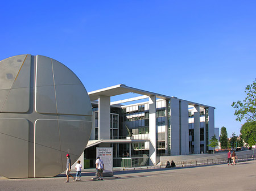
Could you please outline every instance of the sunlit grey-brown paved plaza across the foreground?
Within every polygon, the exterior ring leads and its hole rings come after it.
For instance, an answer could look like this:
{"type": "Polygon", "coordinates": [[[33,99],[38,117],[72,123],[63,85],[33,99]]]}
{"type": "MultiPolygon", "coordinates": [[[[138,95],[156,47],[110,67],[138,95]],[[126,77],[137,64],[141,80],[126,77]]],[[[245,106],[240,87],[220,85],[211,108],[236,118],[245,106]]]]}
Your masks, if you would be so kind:
{"type": "Polygon", "coordinates": [[[44,179],[0,178],[0,190],[256,190],[256,162],[189,168],[162,168],[114,172],[118,178],[64,183],[64,175],[44,179]]]}

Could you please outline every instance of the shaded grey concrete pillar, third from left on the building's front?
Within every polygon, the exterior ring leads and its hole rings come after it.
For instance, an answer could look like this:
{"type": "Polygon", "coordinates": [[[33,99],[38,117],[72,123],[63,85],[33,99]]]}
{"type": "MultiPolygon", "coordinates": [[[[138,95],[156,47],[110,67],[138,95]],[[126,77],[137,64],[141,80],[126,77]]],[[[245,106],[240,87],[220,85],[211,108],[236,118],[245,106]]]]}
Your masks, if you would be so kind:
{"type": "Polygon", "coordinates": [[[180,107],[179,100],[171,99],[171,155],[180,154],[180,107]]]}

